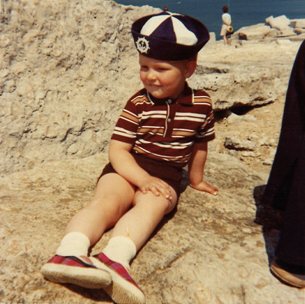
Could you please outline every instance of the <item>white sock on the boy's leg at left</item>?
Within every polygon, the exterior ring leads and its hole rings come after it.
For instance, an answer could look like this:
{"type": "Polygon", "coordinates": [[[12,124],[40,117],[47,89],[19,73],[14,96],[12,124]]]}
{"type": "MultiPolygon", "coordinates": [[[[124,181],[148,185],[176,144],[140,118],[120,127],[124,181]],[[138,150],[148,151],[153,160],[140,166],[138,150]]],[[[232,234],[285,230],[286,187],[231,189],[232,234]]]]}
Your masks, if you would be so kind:
{"type": "Polygon", "coordinates": [[[70,232],[63,238],[56,250],[56,254],[61,256],[87,256],[89,247],[90,241],[85,234],[70,232]]]}

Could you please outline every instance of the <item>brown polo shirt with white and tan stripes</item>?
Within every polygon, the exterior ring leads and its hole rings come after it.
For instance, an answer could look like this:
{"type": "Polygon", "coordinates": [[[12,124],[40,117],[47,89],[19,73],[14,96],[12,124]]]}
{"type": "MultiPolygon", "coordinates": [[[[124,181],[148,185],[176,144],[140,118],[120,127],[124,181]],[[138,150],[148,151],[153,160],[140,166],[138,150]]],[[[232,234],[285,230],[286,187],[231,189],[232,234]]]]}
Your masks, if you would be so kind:
{"type": "Polygon", "coordinates": [[[121,113],[111,139],[133,144],[133,152],[185,166],[194,142],[215,138],[209,95],[186,83],[176,99],[158,99],[146,89],[133,95],[121,113]]]}

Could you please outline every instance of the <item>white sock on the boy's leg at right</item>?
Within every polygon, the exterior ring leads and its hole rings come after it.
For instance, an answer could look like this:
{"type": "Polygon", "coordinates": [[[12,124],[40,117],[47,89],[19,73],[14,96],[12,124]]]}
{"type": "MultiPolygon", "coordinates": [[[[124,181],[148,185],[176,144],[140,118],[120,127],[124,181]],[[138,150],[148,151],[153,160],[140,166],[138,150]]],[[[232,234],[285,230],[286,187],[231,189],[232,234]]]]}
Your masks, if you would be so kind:
{"type": "Polygon", "coordinates": [[[113,237],[109,240],[103,253],[109,259],[130,270],[129,263],[136,256],[137,248],[135,243],[127,237],[113,237]]]}

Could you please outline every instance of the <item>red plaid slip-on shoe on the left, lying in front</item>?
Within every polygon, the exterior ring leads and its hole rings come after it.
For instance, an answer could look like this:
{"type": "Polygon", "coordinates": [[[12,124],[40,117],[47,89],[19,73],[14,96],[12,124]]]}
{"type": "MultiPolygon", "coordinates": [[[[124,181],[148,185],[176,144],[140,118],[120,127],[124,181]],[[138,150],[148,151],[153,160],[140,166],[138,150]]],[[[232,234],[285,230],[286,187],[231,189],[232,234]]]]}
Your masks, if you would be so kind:
{"type": "Polygon", "coordinates": [[[93,265],[87,256],[54,255],[40,272],[54,283],[71,283],[86,288],[103,288],[111,284],[110,274],[93,265]]]}

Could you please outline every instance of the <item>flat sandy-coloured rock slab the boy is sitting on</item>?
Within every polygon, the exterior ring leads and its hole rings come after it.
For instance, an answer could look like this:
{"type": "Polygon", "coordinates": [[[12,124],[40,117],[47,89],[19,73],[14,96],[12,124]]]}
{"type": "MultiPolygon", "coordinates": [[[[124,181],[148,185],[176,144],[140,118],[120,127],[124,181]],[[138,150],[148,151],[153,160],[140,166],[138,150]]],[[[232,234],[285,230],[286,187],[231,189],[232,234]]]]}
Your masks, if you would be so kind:
{"type": "MultiPolygon", "coordinates": [[[[3,302],[109,303],[106,293],[43,279],[41,266],[54,254],[69,219],[94,191],[107,153],[47,162],[0,178],[1,298],[3,302]]],[[[263,232],[259,205],[268,174],[238,159],[210,153],[206,181],[215,197],[182,184],[177,210],[165,217],[140,250],[131,273],[146,303],[303,303],[303,293],[283,285],[268,267],[278,228],[263,232]],[[268,249],[268,255],[266,252],[268,249]],[[220,288],[221,282],[221,288],[220,288]]],[[[275,218],[269,215],[269,225],[275,218]]],[[[265,219],[266,221],[266,219],[265,219]]],[[[100,252],[111,230],[92,248],[100,252]]]]}

